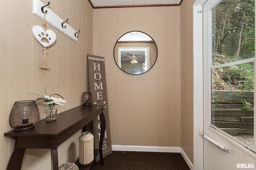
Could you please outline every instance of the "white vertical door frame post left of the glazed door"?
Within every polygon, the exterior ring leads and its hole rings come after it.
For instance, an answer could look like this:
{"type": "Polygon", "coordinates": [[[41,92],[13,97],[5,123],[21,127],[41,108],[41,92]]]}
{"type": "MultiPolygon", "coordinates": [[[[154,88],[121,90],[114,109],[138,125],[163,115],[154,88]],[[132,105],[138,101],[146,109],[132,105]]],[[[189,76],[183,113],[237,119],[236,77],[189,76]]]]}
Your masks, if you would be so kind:
{"type": "MultiPolygon", "coordinates": [[[[194,162],[193,169],[204,168],[204,139],[199,133],[204,130],[204,83],[203,83],[203,5],[207,0],[196,0],[193,4],[193,116],[194,116],[194,162]]],[[[256,14],[255,14],[256,15],[256,14]]],[[[254,66],[256,63],[254,63],[254,66]]],[[[254,80],[255,81],[255,80],[254,80]]],[[[254,98],[256,94],[254,93],[254,98]]],[[[254,103],[254,108],[255,108],[254,103]]],[[[255,111],[255,110],[254,110],[255,111]]],[[[254,117],[256,122],[256,117],[254,117]]],[[[256,124],[254,123],[254,129],[256,124]]],[[[255,139],[255,136],[254,136],[255,139]]],[[[254,141],[255,142],[255,141],[254,141]]],[[[254,145],[255,146],[255,145],[254,145]]],[[[255,154],[254,154],[255,155],[255,154]]]]}

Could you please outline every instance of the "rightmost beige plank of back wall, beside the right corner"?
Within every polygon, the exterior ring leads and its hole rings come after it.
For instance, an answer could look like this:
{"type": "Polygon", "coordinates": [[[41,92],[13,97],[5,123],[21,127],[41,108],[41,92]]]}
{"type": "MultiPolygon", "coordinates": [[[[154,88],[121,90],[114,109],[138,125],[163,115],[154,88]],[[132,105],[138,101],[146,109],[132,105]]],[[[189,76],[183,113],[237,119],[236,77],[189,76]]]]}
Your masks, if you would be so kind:
{"type": "Polygon", "coordinates": [[[179,7],[168,9],[169,146],[180,147],[180,26],[179,7]],[[175,130],[174,130],[175,129],[175,130]],[[175,136],[175,138],[173,138],[175,136]]]}

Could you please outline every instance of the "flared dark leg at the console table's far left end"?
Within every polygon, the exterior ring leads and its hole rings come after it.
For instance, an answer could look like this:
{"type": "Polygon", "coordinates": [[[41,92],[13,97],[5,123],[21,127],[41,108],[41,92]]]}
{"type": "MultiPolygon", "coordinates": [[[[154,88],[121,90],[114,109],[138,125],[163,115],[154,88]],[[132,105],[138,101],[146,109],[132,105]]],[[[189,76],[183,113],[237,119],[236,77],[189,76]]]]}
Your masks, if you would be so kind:
{"type": "Polygon", "coordinates": [[[9,160],[7,170],[20,170],[22,166],[22,160],[24,157],[24,153],[26,149],[18,148],[18,137],[15,137],[15,146],[14,151],[12,152],[12,156],[9,160]]]}

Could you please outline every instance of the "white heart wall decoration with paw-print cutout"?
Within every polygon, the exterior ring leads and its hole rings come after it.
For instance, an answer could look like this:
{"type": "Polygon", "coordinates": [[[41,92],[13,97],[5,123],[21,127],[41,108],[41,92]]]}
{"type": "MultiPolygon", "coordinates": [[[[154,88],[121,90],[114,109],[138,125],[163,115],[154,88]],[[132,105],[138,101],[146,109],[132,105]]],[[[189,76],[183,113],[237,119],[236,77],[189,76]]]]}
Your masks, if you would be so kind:
{"type": "Polygon", "coordinates": [[[35,25],[32,28],[32,32],[36,40],[44,47],[48,47],[56,40],[56,34],[54,31],[47,29],[44,31],[39,25],[35,25]]]}

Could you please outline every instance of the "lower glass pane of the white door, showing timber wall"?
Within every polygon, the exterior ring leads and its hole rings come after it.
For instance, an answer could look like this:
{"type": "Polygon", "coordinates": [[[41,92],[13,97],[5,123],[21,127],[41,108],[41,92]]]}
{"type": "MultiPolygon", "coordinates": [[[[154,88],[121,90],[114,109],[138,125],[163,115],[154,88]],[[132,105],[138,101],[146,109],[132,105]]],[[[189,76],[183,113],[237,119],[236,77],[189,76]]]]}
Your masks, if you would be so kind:
{"type": "Polygon", "coordinates": [[[212,69],[212,125],[253,148],[254,63],[212,69]]]}

